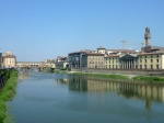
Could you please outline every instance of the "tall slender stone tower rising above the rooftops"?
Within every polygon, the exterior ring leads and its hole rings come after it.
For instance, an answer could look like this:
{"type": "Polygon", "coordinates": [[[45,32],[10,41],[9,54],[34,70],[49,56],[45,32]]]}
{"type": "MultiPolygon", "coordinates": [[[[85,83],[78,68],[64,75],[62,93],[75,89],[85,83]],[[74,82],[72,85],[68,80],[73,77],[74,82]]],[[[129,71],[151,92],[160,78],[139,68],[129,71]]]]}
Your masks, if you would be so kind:
{"type": "Polygon", "coordinates": [[[144,40],[145,40],[145,47],[150,46],[151,45],[150,27],[145,27],[144,40]]]}

